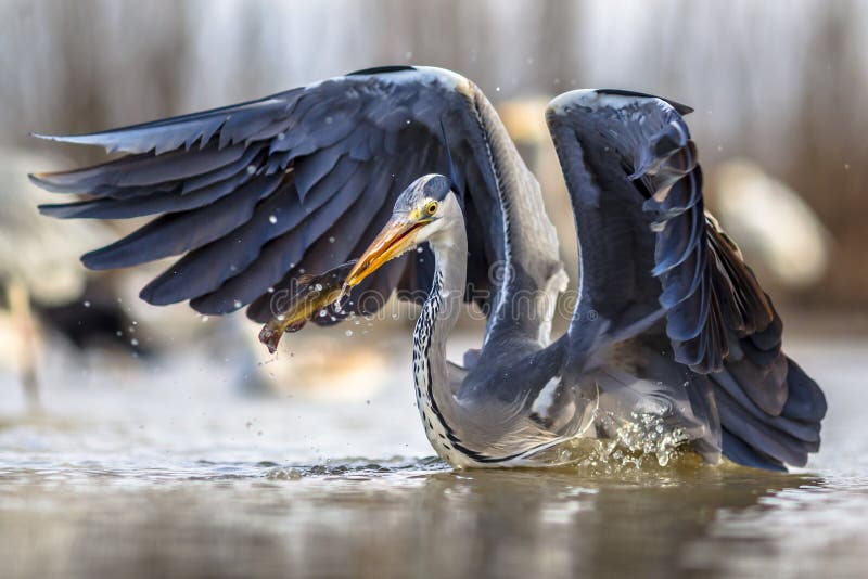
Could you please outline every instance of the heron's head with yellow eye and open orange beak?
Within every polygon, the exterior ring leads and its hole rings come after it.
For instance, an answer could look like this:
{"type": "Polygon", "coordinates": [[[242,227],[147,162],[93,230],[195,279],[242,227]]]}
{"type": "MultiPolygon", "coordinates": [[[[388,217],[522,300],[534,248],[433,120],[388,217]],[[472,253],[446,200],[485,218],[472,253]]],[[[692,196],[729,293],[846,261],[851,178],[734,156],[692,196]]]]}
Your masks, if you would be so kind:
{"type": "Polygon", "coordinates": [[[374,237],[349,272],[345,287],[358,285],[386,261],[434,239],[458,209],[449,179],[442,175],[420,177],[398,196],[392,218],[374,237]]]}

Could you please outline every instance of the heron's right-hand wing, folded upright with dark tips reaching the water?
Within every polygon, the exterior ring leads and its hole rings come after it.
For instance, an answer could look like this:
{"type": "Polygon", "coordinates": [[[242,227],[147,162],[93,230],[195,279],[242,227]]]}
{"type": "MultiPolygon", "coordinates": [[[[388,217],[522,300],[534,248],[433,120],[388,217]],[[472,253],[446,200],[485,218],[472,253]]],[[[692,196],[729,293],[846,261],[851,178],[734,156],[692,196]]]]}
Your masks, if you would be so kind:
{"type": "MultiPolygon", "coordinates": [[[[699,378],[706,390],[711,384],[715,404],[703,413],[719,413],[724,454],[767,468],[803,465],[819,443],[822,391],[781,351],[770,299],[704,210],[685,112],[623,91],[577,91],[552,102],[548,121],[582,248],[571,355],[587,360],[638,334],[661,338],[644,353],[635,347],[641,340],[631,340],[628,365],[648,372],[658,357],[680,364],[690,388],[699,378]],[[665,329],[655,323],[662,319],[665,329]]],[[[706,443],[714,450],[714,440],[706,443]]]]}

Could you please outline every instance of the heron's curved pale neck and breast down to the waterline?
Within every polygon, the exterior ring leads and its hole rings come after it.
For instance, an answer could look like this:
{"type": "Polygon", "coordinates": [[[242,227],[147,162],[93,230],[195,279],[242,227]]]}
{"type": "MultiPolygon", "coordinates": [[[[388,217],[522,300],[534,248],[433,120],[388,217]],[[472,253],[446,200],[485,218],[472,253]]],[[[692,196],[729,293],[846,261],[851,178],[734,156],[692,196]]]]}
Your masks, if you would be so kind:
{"type": "MultiPolygon", "coordinates": [[[[434,279],[413,330],[412,370],[419,414],[431,446],[450,464],[520,462],[528,451],[533,453],[551,441],[545,433],[534,433],[536,428],[523,412],[524,400],[511,399],[507,391],[502,398],[490,397],[496,373],[469,373],[446,359],[446,343],[464,300],[468,243],[455,197],[447,197],[444,211],[444,228],[429,240],[435,259],[434,279]]],[[[528,339],[524,347],[526,351],[513,350],[514,361],[527,363],[542,345],[528,339]]],[[[521,376],[516,378],[521,384],[521,376]]]]}

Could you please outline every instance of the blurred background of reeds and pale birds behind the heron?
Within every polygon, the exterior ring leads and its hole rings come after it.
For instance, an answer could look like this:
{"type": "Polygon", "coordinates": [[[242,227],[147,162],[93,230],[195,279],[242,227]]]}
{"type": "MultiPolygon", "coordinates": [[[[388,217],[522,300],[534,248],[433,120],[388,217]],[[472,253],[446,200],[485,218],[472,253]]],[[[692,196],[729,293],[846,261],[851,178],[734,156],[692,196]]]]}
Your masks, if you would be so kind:
{"type": "MultiPolygon", "coordinates": [[[[136,298],[164,265],[85,276],[77,255],[140,223],[38,216],[34,206],[50,194],[26,172],[103,156],[29,131],[129,125],[382,64],[442,66],[480,85],[542,183],[573,283],[575,233],[546,103],[614,87],[693,106],[707,206],[778,307],[796,326],[868,329],[865,2],[7,0],[0,27],[0,279],[12,312],[0,342],[18,336],[12,358],[25,382],[39,365],[27,345],[46,322],[76,346],[102,331],[107,339],[97,343],[136,356],[203,333],[184,306],[166,312],[136,298]],[[85,321],[97,327],[82,330],[85,321]]],[[[255,335],[235,318],[231,335],[255,335]]],[[[212,335],[219,322],[208,323],[212,335]]]]}

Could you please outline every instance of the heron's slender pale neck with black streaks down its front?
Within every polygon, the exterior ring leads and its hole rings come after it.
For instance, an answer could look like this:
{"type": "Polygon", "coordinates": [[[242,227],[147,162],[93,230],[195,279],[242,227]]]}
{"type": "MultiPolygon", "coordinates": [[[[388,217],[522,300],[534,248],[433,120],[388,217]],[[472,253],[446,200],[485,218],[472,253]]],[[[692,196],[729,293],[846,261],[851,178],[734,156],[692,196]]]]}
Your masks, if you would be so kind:
{"type": "MultiPolygon", "coordinates": [[[[430,242],[434,283],[413,331],[413,379],[425,434],[437,453],[454,454],[461,409],[452,395],[446,340],[461,312],[467,281],[468,241],[463,218],[450,220],[430,242]]],[[[448,459],[455,463],[455,456],[448,459]]]]}

